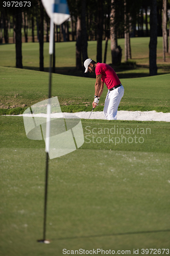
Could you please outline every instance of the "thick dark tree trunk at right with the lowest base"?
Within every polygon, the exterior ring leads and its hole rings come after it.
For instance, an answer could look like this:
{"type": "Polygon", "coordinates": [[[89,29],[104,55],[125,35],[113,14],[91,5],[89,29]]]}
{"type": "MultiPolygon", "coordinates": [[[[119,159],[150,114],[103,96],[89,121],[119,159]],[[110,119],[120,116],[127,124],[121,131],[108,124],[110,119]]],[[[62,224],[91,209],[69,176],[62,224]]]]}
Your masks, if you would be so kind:
{"type": "Polygon", "coordinates": [[[157,75],[156,65],[156,49],[157,49],[157,11],[156,0],[151,0],[150,14],[150,44],[149,44],[149,61],[150,61],[150,76],[157,75]]]}

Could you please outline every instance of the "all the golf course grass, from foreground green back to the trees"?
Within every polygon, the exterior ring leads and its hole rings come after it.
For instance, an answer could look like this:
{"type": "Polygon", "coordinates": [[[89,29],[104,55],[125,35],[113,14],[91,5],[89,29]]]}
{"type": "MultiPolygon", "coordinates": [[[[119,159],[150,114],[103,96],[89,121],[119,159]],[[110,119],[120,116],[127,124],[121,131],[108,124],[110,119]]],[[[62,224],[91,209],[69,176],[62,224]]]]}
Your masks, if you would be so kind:
{"type": "MultiPolygon", "coordinates": [[[[135,39],[139,60],[142,44],[139,38],[134,38],[134,42],[135,39]]],[[[100,248],[115,250],[115,253],[117,250],[130,250],[131,254],[133,249],[139,249],[139,255],[142,255],[141,249],[169,248],[169,122],[154,121],[81,120],[84,144],[70,154],[50,160],[46,238],[51,243],[36,242],[42,239],[45,144],[26,137],[22,117],[4,116],[23,113],[29,106],[47,98],[48,73],[38,71],[38,44],[29,44],[22,44],[22,70],[14,68],[14,45],[0,46],[0,96],[3,105],[0,117],[0,254],[58,256],[63,255],[64,248],[100,248]],[[29,55],[28,62],[33,63],[26,65],[29,55]],[[131,133],[92,132],[99,127],[110,131],[114,125],[125,131],[128,128],[131,133]],[[144,133],[137,134],[134,132],[137,129],[143,129],[144,133]],[[146,129],[150,129],[148,133],[146,129]],[[115,136],[121,138],[122,135],[127,142],[106,143],[103,139],[109,135],[113,142],[115,136]],[[134,136],[142,137],[143,142],[137,140],[136,143],[134,139],[128,142],[128,138],[134,136]],[[102,140],[100,143],[98,137],[102,140]]],[[[89,42],[88,49],[89,57],[95,60],[93,44],[89,42]]],[[[75,55],[71,47],[73,49],[75,43],[56,44],[59,46],[63,48],[56,55],[56,66],[67,71],[67,67],[72,67],[71,72],[74,72],[75,55]]],[[[46,69],[47,48],[46,44],[46,69]]],[[[135,47],[132,48],[133,58],[134,52],[135,47]]],[[[148,57],[143,59],[142,65],[144,62],[148,65],[147,61],[148,57]]],[[[125,95],[119,110],[168,113],[170,75],[162,74],[168,73],[167,63],[160,71],[161,75],[153,77],[146,75],[149,74],[147,66],[143,67],[120,71],[125,95]],[[142,70],[147,70],[143,74],[145,77],[138,77],[142,70]],[[135,78],[128,78],[132,73],[135,73],[135,78]]],[[[94,78],[53,74],[52,83],[52,96],[58,96],[63,112],[91,111],[94,78]]],[[[106,92],[105,87],[96,111],[102,111],[106,92]]]]}

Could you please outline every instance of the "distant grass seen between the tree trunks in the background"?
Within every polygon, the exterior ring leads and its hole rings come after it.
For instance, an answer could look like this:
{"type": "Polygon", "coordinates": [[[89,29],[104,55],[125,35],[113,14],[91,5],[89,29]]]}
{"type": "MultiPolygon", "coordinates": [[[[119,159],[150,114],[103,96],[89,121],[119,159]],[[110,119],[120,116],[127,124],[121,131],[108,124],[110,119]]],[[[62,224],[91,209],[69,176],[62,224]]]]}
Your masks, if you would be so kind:
{"type": "MultiPolygon", "coordinates": [[[[131,38],[132,60],[137,63],[137,68],[114,67],[119,78],[131,78],[149,76],[149,37],[131,38]]],[[[118,39],[118,45],[123,49],[122,62],[125,59],[124,38],[118,39]]],[[[67,75],[83,76],[82,71],[77,71],[76,67],[76,42],[56,43],[56,72],[67,75]]],[[[103,56],[105,41],[103,41],[103,56]]],[[[0,45],[0,66],[15,67],[15,44],[0,45]]],[[[96,41],[88,41],[88,56],[96,60],[96,41]]],[[[158,74],[170,72],[169,54],[166,54],[166,62],[163,62],[162,37],[158,37],[157,44],[157,64],[158,74]]],[[[29,42],[22,44],[22,62],[24,69],[39,70],[39,43],[29,42]]],[[[111,63],[110,40],[108,41],[108,51],[106,63],[111,63]]],[[[49,56],[48,43],[44,42],[44,70],[48,71],[49,56]]],[[[91,77],[91,75],[90,75],[91,77]]]]}

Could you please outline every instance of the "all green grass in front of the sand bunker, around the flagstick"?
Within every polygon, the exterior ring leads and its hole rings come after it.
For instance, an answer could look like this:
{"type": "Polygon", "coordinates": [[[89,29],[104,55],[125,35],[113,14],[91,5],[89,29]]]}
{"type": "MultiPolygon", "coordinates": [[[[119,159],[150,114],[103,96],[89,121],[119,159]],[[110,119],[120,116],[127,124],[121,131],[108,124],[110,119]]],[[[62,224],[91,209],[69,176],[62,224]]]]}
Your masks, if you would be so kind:
{"type": "Polygon", "coordinates": [[[169,248],[168,123],[82,120],[84,135],[114,125],[150,127],[151,134],[140,145],[101,143],[101,149],[85,139],[77,151],[50,160],[51,244],[43,245],[36,240],[42,238],[44,142],[26,137],[22,117],[0,119],[2,256],[63,255],[64,248],[131,254],[135,248],[142,255],[142,248],[169,248]]]}

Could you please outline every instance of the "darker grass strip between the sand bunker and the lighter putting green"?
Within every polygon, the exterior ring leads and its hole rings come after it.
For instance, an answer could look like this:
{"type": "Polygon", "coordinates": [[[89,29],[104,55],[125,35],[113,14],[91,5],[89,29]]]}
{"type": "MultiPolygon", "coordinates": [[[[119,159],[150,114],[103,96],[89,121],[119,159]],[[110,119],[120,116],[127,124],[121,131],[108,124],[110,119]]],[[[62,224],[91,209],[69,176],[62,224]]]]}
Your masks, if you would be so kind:
{"type": "MultiPolygon", "coordinates": [[[[1,116],[1,120],[1,147],[44,148],[44,141],[26,137],[22,117],[1,116]]],[[[82,119],[82,124],[83,150],[170,153],[168,122],[82,119]]]]}

